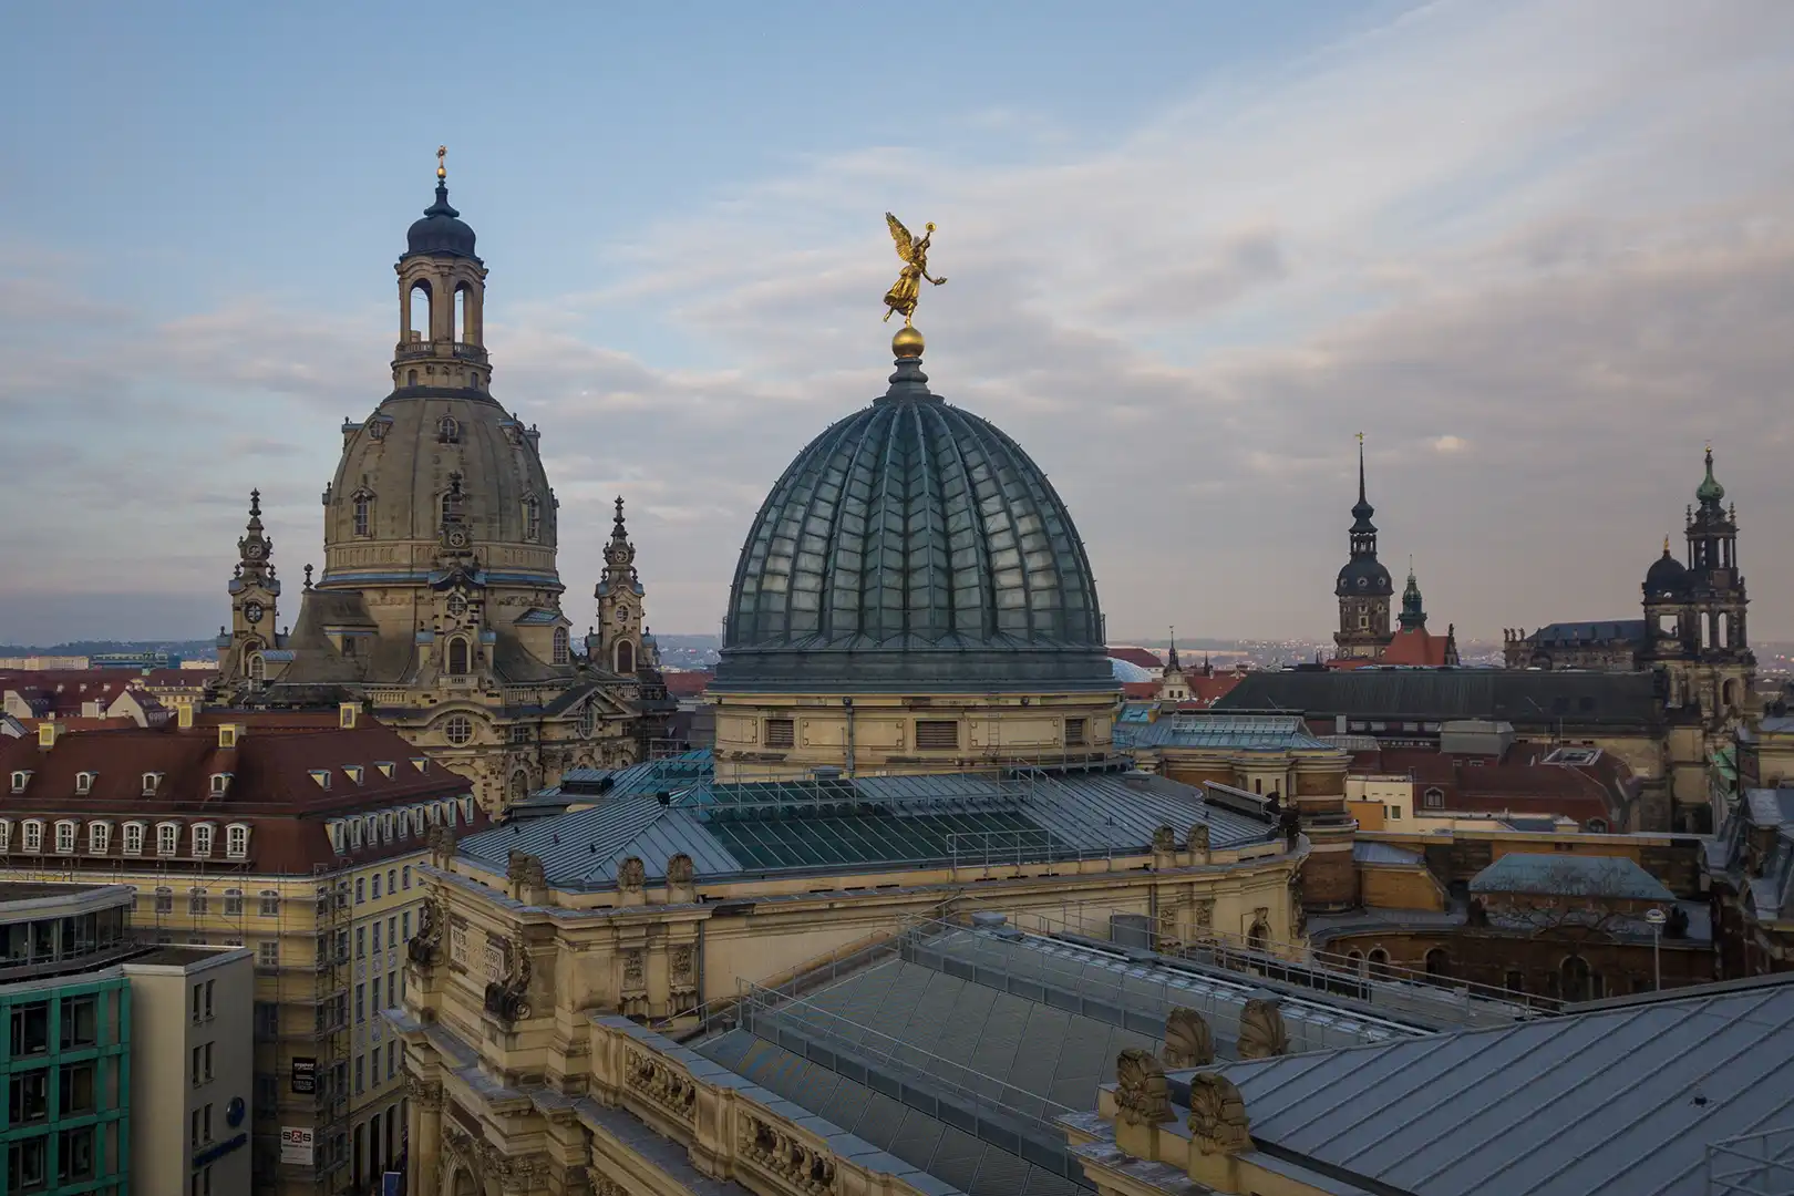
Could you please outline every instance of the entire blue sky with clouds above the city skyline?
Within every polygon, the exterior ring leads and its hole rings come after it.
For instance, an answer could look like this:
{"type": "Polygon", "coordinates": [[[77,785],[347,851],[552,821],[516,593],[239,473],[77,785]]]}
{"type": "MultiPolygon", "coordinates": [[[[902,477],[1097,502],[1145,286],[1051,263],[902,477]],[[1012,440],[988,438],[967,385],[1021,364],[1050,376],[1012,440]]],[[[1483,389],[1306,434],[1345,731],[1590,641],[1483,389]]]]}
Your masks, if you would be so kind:
{"type": "Polygon", "coordinates": [[[621,493],[649,624],[718,629],[884,389],[890,210],[1112,640],[1326,635],[1356,432],[1460,638],[1638,617],[1710,441],[1794,638],[1785,0],[515,7],[0,9],[0,642],[212,633],[251,488],[321,563],[438,143],[576,626],[621,493]]]}

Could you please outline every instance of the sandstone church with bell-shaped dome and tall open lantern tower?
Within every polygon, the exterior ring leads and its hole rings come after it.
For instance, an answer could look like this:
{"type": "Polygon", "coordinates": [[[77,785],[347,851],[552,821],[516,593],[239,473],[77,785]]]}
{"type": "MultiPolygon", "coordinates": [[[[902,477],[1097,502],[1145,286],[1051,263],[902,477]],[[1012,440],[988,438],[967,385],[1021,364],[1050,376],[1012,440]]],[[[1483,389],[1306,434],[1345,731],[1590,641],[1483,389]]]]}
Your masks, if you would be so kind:
{"type": "Polygon", "coordinates": [[[479,782],[495,810],[569,767],[640,758],[662,712],[644,699],[657,678],[633,662],[619,676],[572,651],[558,502],[536,429],[492,396],[486,265],[441,158],[436,203],[395,267],[393,389],[343,423],[323,491],[323,574],[307,581],[291,637],[221,663],[239,701],[371,706],[479,782]]]}

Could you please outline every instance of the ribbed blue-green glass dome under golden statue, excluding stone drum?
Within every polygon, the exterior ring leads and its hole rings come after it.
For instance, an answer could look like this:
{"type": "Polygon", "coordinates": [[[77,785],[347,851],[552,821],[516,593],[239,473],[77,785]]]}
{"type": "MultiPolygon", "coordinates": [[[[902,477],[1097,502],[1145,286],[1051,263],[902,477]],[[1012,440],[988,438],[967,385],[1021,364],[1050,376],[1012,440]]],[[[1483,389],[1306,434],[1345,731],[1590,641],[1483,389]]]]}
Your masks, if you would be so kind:
{"type": "Polygon", "coordinates": [[[753,516],[714,689],[1114,689],[1066,504],[1014,439],[929,393],[920,335],[893,348],[890,391],[753,516]]]}

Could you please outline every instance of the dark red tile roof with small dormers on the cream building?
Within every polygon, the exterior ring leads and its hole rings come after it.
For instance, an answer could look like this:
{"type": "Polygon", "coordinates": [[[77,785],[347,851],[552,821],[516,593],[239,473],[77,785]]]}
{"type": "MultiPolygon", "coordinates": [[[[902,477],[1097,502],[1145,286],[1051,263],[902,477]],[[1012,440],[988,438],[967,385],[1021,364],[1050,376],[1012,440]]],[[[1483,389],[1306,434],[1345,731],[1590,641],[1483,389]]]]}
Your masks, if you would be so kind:
{"type": "MultiPolygon", "coordinates": [[[[332,715],[334,719],[334,715],[332,715]]],[[[404,805],[440,802],[468,794],[470,782],[434,760],[420,771],[413,758],[418,750],[395,732],[362,719],[355,730],[269,728],[251,719],[235,748],[219,748],[215,728],[176,730],[174,726],[97,732],[63,732],[54,748],[39,748],[38,739],[0,741],[0,818],[39,816],[111,821],[213,821],[248,823],[248,864],[264,873],[309,873],[314,864],[348,864],[414,852],[418,837],[364,846],[353,855],[334,852],[327,823],[332,818],[370,814],[404,805]],[[388,776],[379,764],[391,766],[388,776]],[[361,769],[355,780],[352,767],[361,769]],[[314,780],[327,773],[330,787],[314,780]],[[23,793],[13,793],[13,773],[29,773],[23,793]],[[86,794],[75,793],[75,775],[91,773],[86,794]],[[144,794],[144,775],[160,773],[156,791],[144,794]],[[228,789],[213,796],[212,776],[230,775],[228,789]]],[[[484,827],[475,809],[474,827],[484,827]]],[[[183,832],[185,854],[185,832],[183,832]]],[[[81,837],[86,855],[86,837],[81,837]]],[[[109,859],[122,855],[124,836],[111,836],[109,859]]],[[[9,861],[22,855],[18,832],[9,837],[9,861]]],[[[222,864],[222,830],[213,859],[222,864]]],[[[152,854],[145,855],[154,859],[152,854]]],[[[183,864],[194,868],[197,864],[183,864]]],[[[242,866],[233,861],[231,866],[242,866]]]]}

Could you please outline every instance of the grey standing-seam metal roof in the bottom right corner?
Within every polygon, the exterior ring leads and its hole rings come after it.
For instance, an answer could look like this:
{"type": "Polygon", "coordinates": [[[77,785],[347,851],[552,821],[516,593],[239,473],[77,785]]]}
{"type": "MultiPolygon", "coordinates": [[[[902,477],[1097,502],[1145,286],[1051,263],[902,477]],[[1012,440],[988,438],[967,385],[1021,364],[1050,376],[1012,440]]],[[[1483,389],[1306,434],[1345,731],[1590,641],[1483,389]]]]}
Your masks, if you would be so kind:
{"type": "Polygon", "coordinates": [[[1254,1142],[1340,1182],[1703,1196],[1710,1148],[1794,1124],[1790,1056],[1794,984],[1776,984],[1220,1070],[1254,1142]]]}

